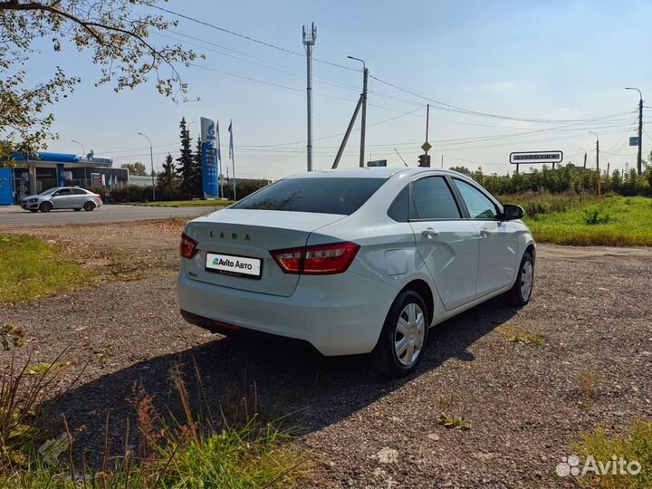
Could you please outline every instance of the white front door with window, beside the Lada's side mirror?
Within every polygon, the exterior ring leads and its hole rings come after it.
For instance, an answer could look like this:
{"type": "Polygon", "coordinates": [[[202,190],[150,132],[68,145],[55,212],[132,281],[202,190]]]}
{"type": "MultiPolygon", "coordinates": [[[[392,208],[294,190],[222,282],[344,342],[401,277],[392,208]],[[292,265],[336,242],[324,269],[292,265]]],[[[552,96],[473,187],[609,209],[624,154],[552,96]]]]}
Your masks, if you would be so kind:
{"type": "Polygon", "coordinates": [[[453,178],[480,237],[477,296],[511,285],[518,265],[516,225],[501,220],[501,209],[482,189],[460,178],[453,178]]]}

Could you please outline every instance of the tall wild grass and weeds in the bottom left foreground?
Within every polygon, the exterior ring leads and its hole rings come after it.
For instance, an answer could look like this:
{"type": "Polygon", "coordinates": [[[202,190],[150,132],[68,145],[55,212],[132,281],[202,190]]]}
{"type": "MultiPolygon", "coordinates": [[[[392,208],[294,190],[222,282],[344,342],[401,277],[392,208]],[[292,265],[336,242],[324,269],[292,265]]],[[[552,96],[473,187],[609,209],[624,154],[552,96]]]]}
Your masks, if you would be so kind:
{"type": "MultiPolygon", "coordinates": [[[[43,389],[47,385],[41,373],[40,383],[25,374],[27,368],[13,379],[11,388],[0,390],[8,399],[10,392],[34,392],[33,401],[26,404],[0,404],[0,415],[14,412],[3,425],[0,416],[0,487],[4,489],[154,489],[181,487],[233,487],[254,489],[297,486],[309,473],[308,454],[292,443],[292,436],[281,427],[281,421],[264,422],[255,412],[257,402],[244,399],[238,404],[245,408],[245,420],[228,420],[224,412],[219,420],[210,414],[201,416],[190,408],[195,403],[188,390],[180,366],[170,369],[170,380],[177,390],[182,415],[171,411],[162,417],[154,406],[154,397],[134,385],[129,403],[136,412],[139,447],[124,446],[122,455],[114,457],[109,450],[109,417],[105,426],[105,443],[99,467],[78,465],[74,461],[74,436],[67,423],[61,436],[44,440],[30,423],[30,412],[37,410],[43,389]],[[31,384],[30,384],[31,383],[31,384]],[[34,386],[29,389],[29,386],[34,386]],[[5,392],[7,394],[5,394],[5,392]],[[38,394],[38,395],[37,395],[38,394]],[[6,408],[6,409],[4,409],[6,408]],[[27,409],[29,408],[29,409],[27,409]],[[15,419],[14,419],[15,418],[15,419]],[[20,437],[16,433],[20,433],[20,437]],[[12,444],[12,441],[15,440],[12,444]],[[9,450],[7,450],[9,447],[9,450]]],[[[196,368],[197,389],[203,391],[196,368]]],[[[255,392],[255,389],[254,389],[255,392]]],[[[199,394],[199,399],[206,398],[199,394]]],[[[129,424],[124,439],[129,440],[129,424]]]]}

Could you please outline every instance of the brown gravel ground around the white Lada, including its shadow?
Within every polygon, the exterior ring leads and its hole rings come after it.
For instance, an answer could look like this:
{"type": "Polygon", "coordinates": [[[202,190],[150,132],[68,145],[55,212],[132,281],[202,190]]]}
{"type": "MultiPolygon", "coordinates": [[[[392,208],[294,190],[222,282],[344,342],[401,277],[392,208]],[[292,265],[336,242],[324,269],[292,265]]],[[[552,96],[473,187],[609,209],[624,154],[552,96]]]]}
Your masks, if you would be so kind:
{"type": "Polygon", "coordinates": [[[0,306],[0,322],[34,337],[19,355],[31,350],[35,363],[67,348],[60,389],[85,365],[72,390],[45,404],[50,426],[65,415],[85,427],[79,449],[98,451],[107,413],[111,446],[124,445],[134,382],[178,412],[173,362],[186,365],[189,385],[197,364],[214,409],[255,390],[261,416],[293,413],[299,443],[315,454],[306,483],[315,487],[563,487],[554,468],[580,431],[652,417],[652,250],[540,245],[530,305],[498,298],[446,321],[417,373],[388,381],[364,357],[327,360],[187,325],[174,292],[179,226],[30,230],[103,253],[91,264],[98,286],[0,306]],[[141,260],[139,280],[101,272],[122,255],[141,260]],[[542,341],[507,340],[514,335],[542,341]],[[440,414],[471,429],[442,427],[440,414]]]}

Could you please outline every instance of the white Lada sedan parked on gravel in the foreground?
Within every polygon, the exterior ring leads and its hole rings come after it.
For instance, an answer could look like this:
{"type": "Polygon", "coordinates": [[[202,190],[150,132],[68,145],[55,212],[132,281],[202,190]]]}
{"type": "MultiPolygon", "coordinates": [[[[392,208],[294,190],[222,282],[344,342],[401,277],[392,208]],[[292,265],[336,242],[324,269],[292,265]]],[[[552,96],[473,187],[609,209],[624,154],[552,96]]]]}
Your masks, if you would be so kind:
{"type": "Polygon", "coordinates": [[[187,224],[179,307],[210,331],[370,352],[383,373],[407,375],[429,327],[502,293],[530,301],[535,243],[522,217],[448,170],[284,178],[187,224]]]}

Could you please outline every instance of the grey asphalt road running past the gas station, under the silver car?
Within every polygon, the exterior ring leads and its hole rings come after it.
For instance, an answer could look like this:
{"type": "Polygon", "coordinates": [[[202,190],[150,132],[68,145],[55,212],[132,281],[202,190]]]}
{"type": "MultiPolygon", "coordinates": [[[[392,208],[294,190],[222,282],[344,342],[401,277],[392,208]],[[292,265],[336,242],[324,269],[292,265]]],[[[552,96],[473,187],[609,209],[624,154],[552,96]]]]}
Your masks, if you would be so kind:
{"type": "Polygon", "coordinates": [[[166,219],[168,217],[203,216],[216,207],[146,207],[146,206],[101,206],[92,212],[58,210],[49,213],[28,212],[20,206],[0,206],[0,229],[27,225],[70,225],[91,223],[116,223],[166,219]]]}

